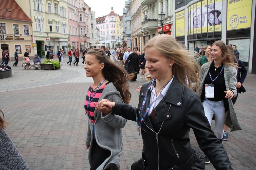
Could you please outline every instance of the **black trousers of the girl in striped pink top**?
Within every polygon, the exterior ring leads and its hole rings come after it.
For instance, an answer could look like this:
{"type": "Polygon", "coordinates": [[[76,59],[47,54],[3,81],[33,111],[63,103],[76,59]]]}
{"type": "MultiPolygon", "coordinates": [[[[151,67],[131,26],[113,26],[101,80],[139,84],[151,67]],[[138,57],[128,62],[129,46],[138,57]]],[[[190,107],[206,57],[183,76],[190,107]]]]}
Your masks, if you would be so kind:
{"type": "Polygon", "coordinates": [[[102,164],[104,162],[104,160],[106,160],[106,158],[108,158],[111,154],[110,151],[105,150],[103,148],[101,148],[96,140],[93,140],[93,146],[92,146],[92,157],[91,157],[91,170],[95,170],[97,169],[100,164],[102,164]]]}

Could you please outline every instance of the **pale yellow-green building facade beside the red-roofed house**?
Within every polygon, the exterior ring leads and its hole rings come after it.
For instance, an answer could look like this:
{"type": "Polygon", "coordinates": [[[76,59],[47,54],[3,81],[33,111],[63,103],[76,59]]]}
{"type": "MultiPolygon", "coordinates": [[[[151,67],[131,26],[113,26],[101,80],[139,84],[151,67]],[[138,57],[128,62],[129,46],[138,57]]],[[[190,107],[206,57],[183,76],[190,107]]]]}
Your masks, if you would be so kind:
{"type": "Polygon", "coordinates": [[[61,0],[16,0],[33,21],[35,53],[45,57],[49,48],[68,51],[68,5],[61,0]]]}

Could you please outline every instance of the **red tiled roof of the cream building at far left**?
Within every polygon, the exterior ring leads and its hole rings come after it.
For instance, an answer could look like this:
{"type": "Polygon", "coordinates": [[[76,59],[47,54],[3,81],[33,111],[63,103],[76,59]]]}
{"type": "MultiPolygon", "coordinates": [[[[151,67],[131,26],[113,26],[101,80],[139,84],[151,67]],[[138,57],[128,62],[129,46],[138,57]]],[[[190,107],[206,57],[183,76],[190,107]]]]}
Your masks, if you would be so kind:
{"type": "Polygon", "coordinates": [[[0,4],[0,18],[32,22],[15,0],[0,0],[0,4]]]}

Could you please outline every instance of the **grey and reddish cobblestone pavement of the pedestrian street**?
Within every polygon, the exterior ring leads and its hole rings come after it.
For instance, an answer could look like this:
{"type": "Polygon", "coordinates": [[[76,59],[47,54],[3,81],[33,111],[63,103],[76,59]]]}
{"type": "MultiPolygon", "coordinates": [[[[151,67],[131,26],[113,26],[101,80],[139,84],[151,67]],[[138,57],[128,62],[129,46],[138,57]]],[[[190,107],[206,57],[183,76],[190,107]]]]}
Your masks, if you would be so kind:
{"type": "MultiPolygon", "coordinates": [[[[24,70],[21,63],[12,67],[12,77],[0,79],[0,108],[10,122],[7,134],[32,170],[89,169],[84,99],[92,79],[86,77],[81,61],[79,66],[64,62],[60,70],[51,71],[24,70]]],[[[134,107],[138,106],[136,88],[144,82],[138,75],[137,82],[130,83],[134,107]]],[[[247,92],[239,94],[235,105],[243,130],[229,131],[229,140],[223,141],[234,169],[256,169],[255,84],[256,75],[248,74],[243,84],[247,92]]],[[[190,138],[200,150],[193,131],[190,138]]],[[[141,157],[143,147],[135,122],[127,121],[123,143],[121,169],[127,170],[141,157]]],[[[214,168],[207,164],[205,169],[214,168]]]]}

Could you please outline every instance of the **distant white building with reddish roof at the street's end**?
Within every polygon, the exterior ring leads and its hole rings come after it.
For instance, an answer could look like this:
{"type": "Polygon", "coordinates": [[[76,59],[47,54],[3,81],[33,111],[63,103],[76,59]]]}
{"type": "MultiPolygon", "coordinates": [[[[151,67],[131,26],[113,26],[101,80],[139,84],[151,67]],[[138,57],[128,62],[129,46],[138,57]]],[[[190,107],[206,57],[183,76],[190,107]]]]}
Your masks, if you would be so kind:
{"type": "Polygon", "coordinates": [[[113,50],[121,40],[120,22],[122,16],[117,15],[111,7],[111,12],[96,18],[96,27],[100,31],[100,43],[113,50]]]}

